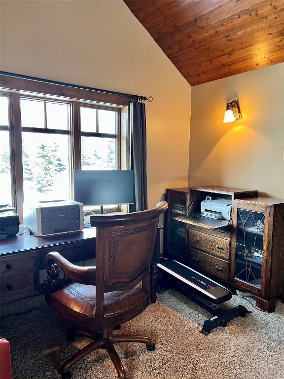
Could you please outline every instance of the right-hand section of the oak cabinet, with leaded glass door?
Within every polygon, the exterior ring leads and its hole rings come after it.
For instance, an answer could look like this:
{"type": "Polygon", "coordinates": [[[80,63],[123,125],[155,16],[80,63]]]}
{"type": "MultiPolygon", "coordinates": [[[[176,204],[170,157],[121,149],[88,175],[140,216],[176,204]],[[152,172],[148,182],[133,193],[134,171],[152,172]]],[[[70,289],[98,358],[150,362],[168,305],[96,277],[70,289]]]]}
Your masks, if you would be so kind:
{"type": "Polygon", "coordinates": [[[284,294],[284,200],[256,197],[233,204],[230,282],[275,309],[284,294]]]}

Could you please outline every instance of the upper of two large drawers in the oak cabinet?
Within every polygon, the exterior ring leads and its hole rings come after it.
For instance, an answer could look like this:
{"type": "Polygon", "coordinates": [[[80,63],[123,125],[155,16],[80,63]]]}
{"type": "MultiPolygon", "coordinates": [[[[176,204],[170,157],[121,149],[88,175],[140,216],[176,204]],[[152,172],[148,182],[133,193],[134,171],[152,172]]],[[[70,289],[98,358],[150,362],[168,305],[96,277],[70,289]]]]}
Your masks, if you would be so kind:
{"type": "Polygon", "coordinates": [[[188,245],[218,257],[229,259],[230,241],[189,229],[188,245]]]}

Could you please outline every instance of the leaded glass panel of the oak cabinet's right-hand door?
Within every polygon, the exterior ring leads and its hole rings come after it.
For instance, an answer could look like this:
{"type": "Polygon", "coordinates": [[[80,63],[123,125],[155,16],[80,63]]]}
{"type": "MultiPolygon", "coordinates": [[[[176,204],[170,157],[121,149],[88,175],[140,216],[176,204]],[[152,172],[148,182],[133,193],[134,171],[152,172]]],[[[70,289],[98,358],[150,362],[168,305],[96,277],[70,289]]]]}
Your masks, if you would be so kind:
{"type": "Polygon", "coordinates": [[[235,278],[260,289],[265,214],[237,210],[235,278]]]}

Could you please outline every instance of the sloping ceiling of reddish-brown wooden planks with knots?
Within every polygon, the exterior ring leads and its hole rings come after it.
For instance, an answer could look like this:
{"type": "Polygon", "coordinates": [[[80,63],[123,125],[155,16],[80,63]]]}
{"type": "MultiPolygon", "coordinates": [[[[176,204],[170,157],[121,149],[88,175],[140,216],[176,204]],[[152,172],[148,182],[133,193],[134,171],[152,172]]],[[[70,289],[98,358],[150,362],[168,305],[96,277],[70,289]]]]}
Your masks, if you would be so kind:
{"type": "Polygon", "coordinates": [[[192,86],[284,62],[284,0],[124,0],[192,86]]]}

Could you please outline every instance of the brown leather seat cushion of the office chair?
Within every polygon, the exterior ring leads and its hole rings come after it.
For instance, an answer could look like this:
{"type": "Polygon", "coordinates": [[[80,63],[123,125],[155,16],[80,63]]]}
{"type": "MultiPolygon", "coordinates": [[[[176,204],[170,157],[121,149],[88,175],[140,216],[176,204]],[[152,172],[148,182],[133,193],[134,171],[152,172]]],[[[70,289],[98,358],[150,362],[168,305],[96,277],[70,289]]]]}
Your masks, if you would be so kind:
{"type": "MultiPolygon", "coordinates": [[[[96,312],[96,286],[66,281],[64,285],[49,297],[66,311],[94,317],[96,312]]],[[[111,317],[129,311],[149,299],[141,283],[128,291],[114,291],[105,294],[104,317],[111,317]]],[[[57,307],[58,309],[58,307],[57,307]]],[[[60,309],[58,309],[60,311],[60,309]]],[[[62,313],[62,312],[61,312],[62,313]]]]}

